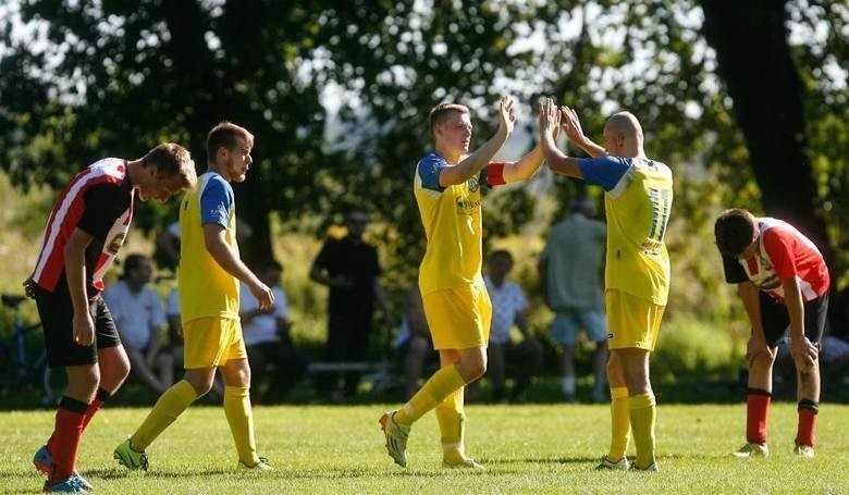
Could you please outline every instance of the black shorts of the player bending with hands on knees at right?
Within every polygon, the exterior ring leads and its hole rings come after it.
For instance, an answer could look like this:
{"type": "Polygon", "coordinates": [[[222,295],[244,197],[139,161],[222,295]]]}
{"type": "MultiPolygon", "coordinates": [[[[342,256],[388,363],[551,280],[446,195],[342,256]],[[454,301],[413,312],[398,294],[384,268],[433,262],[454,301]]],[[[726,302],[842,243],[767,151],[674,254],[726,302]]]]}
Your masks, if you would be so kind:
{"type": "MultiPolygon", "coordinates": [[[[766,293],[760,293],[761,322],[766,345],[775,347],[790,330],[790,315],[787,306],[776,301],[766,293]]],[[[804,336],[819,344],[825,334],[828,320],[828,293],[804,304],[804,336]]]]}

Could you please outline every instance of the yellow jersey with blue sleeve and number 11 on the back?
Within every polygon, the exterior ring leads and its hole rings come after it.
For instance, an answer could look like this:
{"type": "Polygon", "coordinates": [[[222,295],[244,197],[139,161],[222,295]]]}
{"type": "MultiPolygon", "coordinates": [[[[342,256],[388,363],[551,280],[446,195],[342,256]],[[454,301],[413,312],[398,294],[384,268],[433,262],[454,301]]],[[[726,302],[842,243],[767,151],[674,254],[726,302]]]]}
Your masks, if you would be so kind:
{"type": "Polygon", "coordinates": [[[605,190],[605,288],[666,306],[670,269],[664,236],[673,202],[672,171],[648,158],[617,157],[585,159],[580,169],[588,184],[605,190]]]}

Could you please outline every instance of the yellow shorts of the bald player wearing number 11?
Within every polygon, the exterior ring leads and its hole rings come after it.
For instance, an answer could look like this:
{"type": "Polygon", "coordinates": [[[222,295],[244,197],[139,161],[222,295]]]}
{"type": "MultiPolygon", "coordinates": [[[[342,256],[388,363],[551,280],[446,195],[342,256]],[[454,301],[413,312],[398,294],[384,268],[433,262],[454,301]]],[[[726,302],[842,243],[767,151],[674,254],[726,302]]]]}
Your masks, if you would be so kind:
{"type": "Polygon", "coordinates": [[[654,350],[666,307],[615,289],[605,292],[604,300],[607,307],[607,347],[654,350]]]}

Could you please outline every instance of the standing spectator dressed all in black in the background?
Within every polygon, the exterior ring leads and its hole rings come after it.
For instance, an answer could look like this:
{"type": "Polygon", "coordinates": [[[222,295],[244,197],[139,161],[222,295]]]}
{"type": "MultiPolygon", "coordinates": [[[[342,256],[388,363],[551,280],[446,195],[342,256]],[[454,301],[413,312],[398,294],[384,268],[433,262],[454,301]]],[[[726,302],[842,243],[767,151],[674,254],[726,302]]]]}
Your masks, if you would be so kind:
{"type": "MultiPolygon", "coordinates": [[[[368,222],[361,210],[347,212],[347,235],[324,243],[310,270],[310,279],[330,287],[327,360],[331,362],[365,360],[374,305],[389,314],[386,295],[378,280],[378,250],[362,239],[368,222]]],[[[358,385],[358,372],[345,373],[346,396],[353,397],[358,385]]],[[[322,394],[333,392],[327,380],[319,381],[318,387],[322,394]]]]}

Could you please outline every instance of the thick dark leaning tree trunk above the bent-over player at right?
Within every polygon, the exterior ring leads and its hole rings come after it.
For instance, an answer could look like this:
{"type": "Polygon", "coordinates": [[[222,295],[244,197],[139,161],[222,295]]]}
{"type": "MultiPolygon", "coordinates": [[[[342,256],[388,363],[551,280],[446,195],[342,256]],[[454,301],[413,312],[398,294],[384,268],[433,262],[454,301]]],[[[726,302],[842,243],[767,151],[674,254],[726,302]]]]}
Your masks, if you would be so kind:
{"type": "Polygon", "coordinates": [[[702,0],[707,42],[734,100],[764,212],[797,226],[834,267],[810,161],[802,84],[790,57],[785,0],[702,0]]]}

